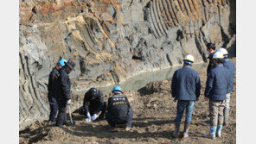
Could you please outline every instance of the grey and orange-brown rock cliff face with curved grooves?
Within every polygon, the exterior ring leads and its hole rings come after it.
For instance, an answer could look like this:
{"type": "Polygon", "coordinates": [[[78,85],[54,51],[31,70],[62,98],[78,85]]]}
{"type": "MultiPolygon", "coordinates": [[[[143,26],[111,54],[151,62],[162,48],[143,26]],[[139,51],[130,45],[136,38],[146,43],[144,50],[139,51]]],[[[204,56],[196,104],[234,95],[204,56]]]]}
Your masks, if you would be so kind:
{"type": "Polygon", "coordinates": [[[48,74],[76,62],[72,92],[235,48],[235,0],[20,0],[20,129],[48,117],[48,74]]]}

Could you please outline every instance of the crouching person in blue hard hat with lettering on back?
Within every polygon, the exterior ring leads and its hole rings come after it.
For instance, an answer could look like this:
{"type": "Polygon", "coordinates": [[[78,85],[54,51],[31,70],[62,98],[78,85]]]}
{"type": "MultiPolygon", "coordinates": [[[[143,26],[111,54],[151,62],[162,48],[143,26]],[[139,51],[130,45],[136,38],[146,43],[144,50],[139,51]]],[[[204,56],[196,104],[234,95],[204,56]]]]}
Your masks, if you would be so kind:
{"type": "Polygon", "coordinates": [[[122,89],[119,86],[112,90],[113,96],[108,99],[106,121],[112,127],[111,132],[116,132],[116,124],[126,124],[126,131],[131,130],[131,120],[133,110],[127,97],[122,95],[122,89]]]}

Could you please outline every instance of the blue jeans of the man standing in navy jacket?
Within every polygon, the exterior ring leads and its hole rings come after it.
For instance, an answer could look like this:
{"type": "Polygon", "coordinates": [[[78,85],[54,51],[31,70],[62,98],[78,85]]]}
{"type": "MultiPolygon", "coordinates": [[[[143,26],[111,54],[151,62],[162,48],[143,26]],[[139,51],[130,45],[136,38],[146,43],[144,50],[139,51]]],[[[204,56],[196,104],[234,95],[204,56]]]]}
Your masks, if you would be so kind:
{"type": "Polygon", "coordinates": [[[195,104],[195,101],[178,101],[175,121],[176,122],[182,121],[182,115],[184,110],[186,109],[186,122],[191,122],[194,104],[195,104]]]}

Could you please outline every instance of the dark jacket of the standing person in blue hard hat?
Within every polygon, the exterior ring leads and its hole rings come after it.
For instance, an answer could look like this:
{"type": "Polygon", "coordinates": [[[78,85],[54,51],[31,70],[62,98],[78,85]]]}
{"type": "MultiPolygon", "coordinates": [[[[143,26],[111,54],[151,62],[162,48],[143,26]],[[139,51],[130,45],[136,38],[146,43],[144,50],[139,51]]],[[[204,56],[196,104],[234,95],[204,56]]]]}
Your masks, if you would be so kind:
{"type": "Polygon", "coordinates": [[[48,78],[48,101],[50,104],[55,104],[56,102],[56,95],[55,95],[55,88],[58,87],[59,81],[58,78],[60,76],[60,72],[53,68],[53,70],[49,74],[48,78]]]}

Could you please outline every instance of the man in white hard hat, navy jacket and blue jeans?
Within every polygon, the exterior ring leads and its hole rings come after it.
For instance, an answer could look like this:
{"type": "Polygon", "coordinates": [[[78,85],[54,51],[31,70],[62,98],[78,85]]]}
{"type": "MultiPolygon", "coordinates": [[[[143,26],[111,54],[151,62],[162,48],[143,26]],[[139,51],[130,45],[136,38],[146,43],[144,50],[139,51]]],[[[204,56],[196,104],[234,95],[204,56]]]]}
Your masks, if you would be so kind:
{"type": "Polygon", "coordinates": [[[193,70],[191,66],[194,63],[194,57],[187,55],[183,59],[183,67],[173,75],[171,83],[172,97],[175,97],[174,102],[178,100],[175,131],[173,136],[178,138],[180,125],[182,121],[183,111],[186,109],[186,121],[184,125],[183,137],[189,137],[189,125],[191,123],[191,116],[194,109],[195,100],[200,96],[201,84],[198,72],[193,70]]]}

